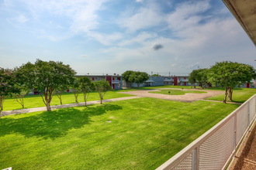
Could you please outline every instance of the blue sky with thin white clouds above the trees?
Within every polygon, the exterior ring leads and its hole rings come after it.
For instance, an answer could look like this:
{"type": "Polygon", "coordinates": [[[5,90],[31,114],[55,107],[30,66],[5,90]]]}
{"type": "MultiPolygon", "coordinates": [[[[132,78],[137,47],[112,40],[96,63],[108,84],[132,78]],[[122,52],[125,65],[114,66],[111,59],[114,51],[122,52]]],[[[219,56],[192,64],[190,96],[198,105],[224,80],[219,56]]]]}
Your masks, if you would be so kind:
{"type": "Polygon", "coordinates": [[[255,46],[221,0],[0,0],[0,67],[63,61],[78,74],[186,75],[255,46]]]}

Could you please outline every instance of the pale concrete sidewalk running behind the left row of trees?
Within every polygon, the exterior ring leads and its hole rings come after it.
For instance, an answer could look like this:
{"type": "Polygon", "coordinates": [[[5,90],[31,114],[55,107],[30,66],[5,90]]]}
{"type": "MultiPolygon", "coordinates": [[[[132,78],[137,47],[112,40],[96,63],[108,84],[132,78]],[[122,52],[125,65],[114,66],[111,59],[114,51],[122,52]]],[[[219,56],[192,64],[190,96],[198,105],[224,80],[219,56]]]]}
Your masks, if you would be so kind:
{"type": "MultiPolygon", "coordinates": [[[[129,99],[136,99],[140,97],[119,97],[119,98],[114,98],[114,99],[107,99],[107,100],[102,100],[103,103],[106,102],[112,102],[112,101],[119,101],[119,100],[129,100],[129,99]]],[[[100,104],[100,100],[95,100],[95,101],[88,101],[87,105],[90,104],[100,104]]],[[[76,104],[62,104],[62,105],[55,105],[55,106],[50,106],[52,110],[54,109],[60,109],[60,108],[67,108],[67,107],[78,107],[78,106],[85,106],[85,102],[81,103],[76,103],[76,104]]],[[[2,111],[2,116],[7,116],[7,115],[12,115],[12,114],[26,114],[26,113],[31,113],[35,111],[46,111],[47,107],[35,107],[35,108],[28,108],[28,109],[20,109],[20,110],[7,110],[7,111],[2,111]]]]}

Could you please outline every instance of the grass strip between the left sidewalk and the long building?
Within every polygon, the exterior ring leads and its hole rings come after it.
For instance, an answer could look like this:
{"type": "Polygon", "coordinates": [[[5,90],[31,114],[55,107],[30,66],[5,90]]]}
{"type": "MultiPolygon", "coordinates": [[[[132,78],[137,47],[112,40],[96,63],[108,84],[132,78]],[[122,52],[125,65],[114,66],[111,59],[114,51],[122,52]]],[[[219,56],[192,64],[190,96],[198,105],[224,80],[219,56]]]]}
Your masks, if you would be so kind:
{"type": "MultiPolygon", "coordinates": [[[[124,92],[124,91],[130,91],[130,90],[114,90],[109,91],[106,93],[106,95],[103,97],[103,99],[112,99],[112,98],[119,98],[119,97],[131,97],[133,95],[130,94],[124,94],[124,93],[117,93],[117,92],[124,92]]],[[[63,93],[62,94],[62,104],[74,104],[74,93],[63,93]]],[[[97,92],[92,92],[89,94],[88,101],[92,100],[100,100],[99,94],[97,92]]],[[[78,102],[84,102],[84,96],[83,93],[80,93],[78,95],[78,102]]],[[[25,108],[33,108],[33,107],[45,107],[45,104],[43,103],[42,97],[40,97],[39,94],[37,95],[27,95],[24,97],[24,104],[25,108]]],[[[54,105],[60,105],[59,98],[54,95],[52,101],[50,102],[51,106],[54,105]]],[[[4,104],[4,111],[5,110],[16,110],[16,109],[22,109],[22,106],[16,102],[13,98],[9,97],[5,100],[4,104]]]]}

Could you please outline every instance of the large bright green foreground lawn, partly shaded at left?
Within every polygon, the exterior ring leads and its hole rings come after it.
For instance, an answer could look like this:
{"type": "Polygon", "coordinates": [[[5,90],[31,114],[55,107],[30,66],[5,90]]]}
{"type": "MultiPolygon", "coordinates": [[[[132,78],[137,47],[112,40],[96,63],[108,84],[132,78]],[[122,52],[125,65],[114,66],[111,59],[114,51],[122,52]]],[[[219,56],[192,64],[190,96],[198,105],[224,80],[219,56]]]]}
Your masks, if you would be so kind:
{"type": "Polygon", "coordinates": [[[0,169],[155,169],[237,107],[144,97],[5,116],[0,169]]]}

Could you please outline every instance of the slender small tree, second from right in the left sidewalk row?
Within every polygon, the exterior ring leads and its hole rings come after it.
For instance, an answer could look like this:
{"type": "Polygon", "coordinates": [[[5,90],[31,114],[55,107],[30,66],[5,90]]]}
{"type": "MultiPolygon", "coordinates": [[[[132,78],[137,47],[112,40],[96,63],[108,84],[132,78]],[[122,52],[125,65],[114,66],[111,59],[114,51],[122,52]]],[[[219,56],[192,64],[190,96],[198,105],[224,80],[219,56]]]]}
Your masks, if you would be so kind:
{"type": "Polygon", "coordinates": [[[83,76],[79,78],[79,84],[81,88],[81,92],[84,94],[85,106],[87,107],[86,101],[90,92],[92,92],[94,88],[94,83],[87,76],[83,76]]]}

